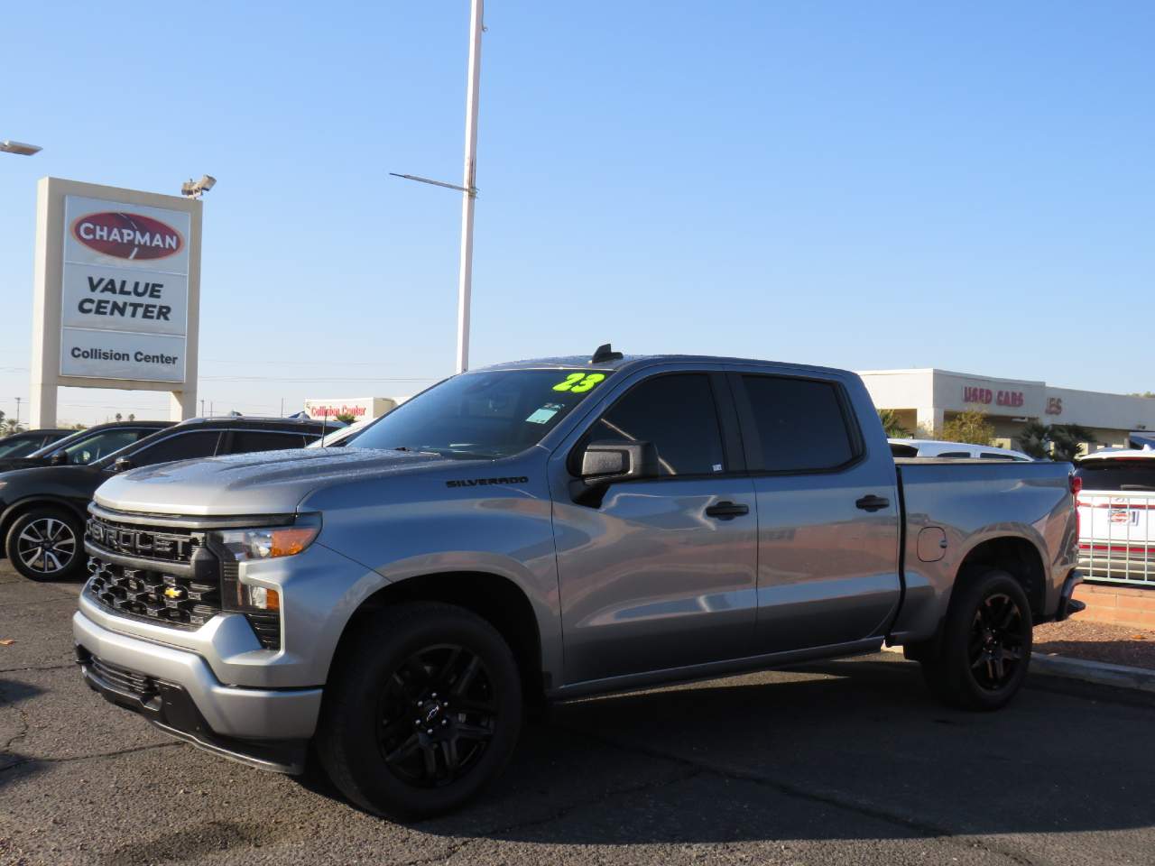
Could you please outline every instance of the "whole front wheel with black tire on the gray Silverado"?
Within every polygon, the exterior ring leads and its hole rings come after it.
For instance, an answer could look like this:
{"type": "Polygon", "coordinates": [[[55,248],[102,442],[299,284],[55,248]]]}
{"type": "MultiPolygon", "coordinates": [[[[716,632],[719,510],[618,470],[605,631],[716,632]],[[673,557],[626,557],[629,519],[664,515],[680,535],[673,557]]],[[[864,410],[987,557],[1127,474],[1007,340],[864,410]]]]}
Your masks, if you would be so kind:
{"type": "Polygon", "coordinates": [[[521,732],[508,644],[462,607],[387,607],[357,624],[325,690],[316,752],[333,784],[375,815],[455,809],[497,778],[521,732]]]}

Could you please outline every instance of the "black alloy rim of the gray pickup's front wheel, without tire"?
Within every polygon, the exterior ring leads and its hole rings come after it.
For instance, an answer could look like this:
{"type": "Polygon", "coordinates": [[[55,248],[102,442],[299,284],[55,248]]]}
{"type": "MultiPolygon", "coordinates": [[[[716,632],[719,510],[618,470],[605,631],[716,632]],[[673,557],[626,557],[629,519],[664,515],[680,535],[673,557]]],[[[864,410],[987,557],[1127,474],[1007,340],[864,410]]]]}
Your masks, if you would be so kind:
{"type": "Polygon", "coordinates": [[[498,707],[482,658],[457,644],[415,652],[381,694],[378,745],[386,767],[418,787],[452,784],[480,762],[498,707]]]}

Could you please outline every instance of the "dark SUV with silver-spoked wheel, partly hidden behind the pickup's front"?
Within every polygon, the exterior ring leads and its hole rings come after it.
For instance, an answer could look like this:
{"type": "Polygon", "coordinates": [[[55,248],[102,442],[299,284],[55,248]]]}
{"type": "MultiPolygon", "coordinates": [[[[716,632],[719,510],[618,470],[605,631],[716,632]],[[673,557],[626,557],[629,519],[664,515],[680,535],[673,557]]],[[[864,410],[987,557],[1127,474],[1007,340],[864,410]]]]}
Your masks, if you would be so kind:
{"type": "Polygon", "coordinates": [[[47,465],[0,473],[0,538],[13,566],[33,581],[84,572],[84,521],[96,488],[136,466],[221,454],[301,448],[321,421],[293,418],[193,418],[88,465],[47,465]]]}

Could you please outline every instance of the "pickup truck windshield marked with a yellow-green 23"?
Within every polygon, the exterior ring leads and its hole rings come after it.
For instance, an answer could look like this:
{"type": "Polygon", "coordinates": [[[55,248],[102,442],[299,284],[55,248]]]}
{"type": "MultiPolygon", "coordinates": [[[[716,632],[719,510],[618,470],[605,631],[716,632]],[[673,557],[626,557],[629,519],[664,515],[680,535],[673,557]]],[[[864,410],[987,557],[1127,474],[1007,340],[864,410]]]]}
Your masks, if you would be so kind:
{"type": "Polygon", "coordinates": [[[402,403],[350,448],[434,451],[492,460],[537,445],[611,371],[506,369],[464,373],[402,403]]]}

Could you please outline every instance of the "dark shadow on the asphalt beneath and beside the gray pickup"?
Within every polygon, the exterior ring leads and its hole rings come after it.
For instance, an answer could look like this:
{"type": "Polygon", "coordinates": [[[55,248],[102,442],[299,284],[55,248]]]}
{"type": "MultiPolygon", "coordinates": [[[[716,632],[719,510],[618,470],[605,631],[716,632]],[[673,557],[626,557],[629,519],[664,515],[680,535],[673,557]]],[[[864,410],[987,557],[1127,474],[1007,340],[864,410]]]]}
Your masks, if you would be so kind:
{"type": "Polygon", "coordinates": [[[1148,828],[1153,721],[1046,685],[961,712],[914,664],[825,663],[556,707],[480,802],[419,828],[574,844],[1148,828]],[[1109,749],[1078,747],[1104,724],[1109,749]]]}

